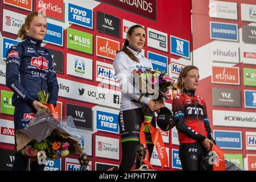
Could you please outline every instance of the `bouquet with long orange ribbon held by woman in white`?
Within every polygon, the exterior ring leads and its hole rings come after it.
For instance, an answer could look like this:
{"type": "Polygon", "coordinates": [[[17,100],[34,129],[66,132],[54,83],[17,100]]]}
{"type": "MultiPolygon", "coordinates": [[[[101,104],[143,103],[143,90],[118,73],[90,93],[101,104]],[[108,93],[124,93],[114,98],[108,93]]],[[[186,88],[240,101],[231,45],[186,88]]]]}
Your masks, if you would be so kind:
{"type": "MultiPolygon", "coordinates": [[[[150,97],[152,100],[159,100],[163,97],[168,100],[170,98],[165,94],[165,92],[167,92],[168,89],[176,90],[173,85],[174,80],[171,77],[168,77],[165,72],[158,72],[158,68],[155,71],[151,69],[146,69],[145,71],[138,69],[138,71],[134,70],[132,73],[133,85],[141,91],[141,98],[150,97]]],[[[162,168],[164,166],[168,167],[168,156],[166,150],[162,150],[162,148],[165,148],[163,139],[159,131],[151,125],[155,112],[151,111],[145,104],[141,103],[141,107],[144,113],[144,122],[142,123],[140,132],[141,144],[146,147],[144,133],[151,133],[152,142],[158,151],[158,155],[162,156],[160,157],[162,168]]],[[[143,161],[147,166],[153,168],[148,162],[148,151],[146,158],[143,161]]]]}

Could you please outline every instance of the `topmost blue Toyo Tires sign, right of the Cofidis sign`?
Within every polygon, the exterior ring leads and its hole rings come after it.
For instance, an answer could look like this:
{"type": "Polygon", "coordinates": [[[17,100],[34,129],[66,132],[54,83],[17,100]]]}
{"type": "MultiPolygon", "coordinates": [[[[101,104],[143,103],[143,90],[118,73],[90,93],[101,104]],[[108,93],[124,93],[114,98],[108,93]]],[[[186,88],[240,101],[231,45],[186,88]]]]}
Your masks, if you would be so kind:
{"type": "Polygon", "coordinates": [[[68,20],[80,26],[93,28],[93,11],[68,3],[68,20]]]}

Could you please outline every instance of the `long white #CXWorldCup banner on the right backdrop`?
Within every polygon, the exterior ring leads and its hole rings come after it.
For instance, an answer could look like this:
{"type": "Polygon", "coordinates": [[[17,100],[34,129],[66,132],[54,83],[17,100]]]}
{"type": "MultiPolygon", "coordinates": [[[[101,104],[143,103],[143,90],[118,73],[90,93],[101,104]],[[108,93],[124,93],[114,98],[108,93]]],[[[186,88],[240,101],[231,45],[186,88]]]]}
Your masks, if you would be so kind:
{"type": "Polygon", "coordinates": [[[214,126],[256,128],[254,112],[212,110],[214,126]]]}

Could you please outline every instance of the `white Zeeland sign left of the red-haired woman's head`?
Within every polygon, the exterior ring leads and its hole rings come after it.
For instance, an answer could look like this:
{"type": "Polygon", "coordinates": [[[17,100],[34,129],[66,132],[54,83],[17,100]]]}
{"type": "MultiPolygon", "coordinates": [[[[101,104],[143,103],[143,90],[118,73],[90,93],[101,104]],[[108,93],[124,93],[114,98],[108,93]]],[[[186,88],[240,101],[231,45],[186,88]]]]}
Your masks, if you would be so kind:
{"type": "Polygon", "coordinates": [[[3,9],[3,31],[17,34],[25,18],[26,15],[3,9]]]}

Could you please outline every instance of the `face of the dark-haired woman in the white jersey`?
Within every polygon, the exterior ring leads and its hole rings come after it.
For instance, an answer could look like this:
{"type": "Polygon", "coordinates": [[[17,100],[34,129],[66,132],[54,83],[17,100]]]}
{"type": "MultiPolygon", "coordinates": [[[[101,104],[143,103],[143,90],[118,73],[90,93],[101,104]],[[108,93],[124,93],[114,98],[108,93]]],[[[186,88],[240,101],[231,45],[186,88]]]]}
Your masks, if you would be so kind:
{"type": "Polygon", "coordinates": [[[141,27],[134,28],[133,33],[131,35],[127,34],[126,38],[131,46],[142,49],[146,41],[146,31],[141,27]]]}

